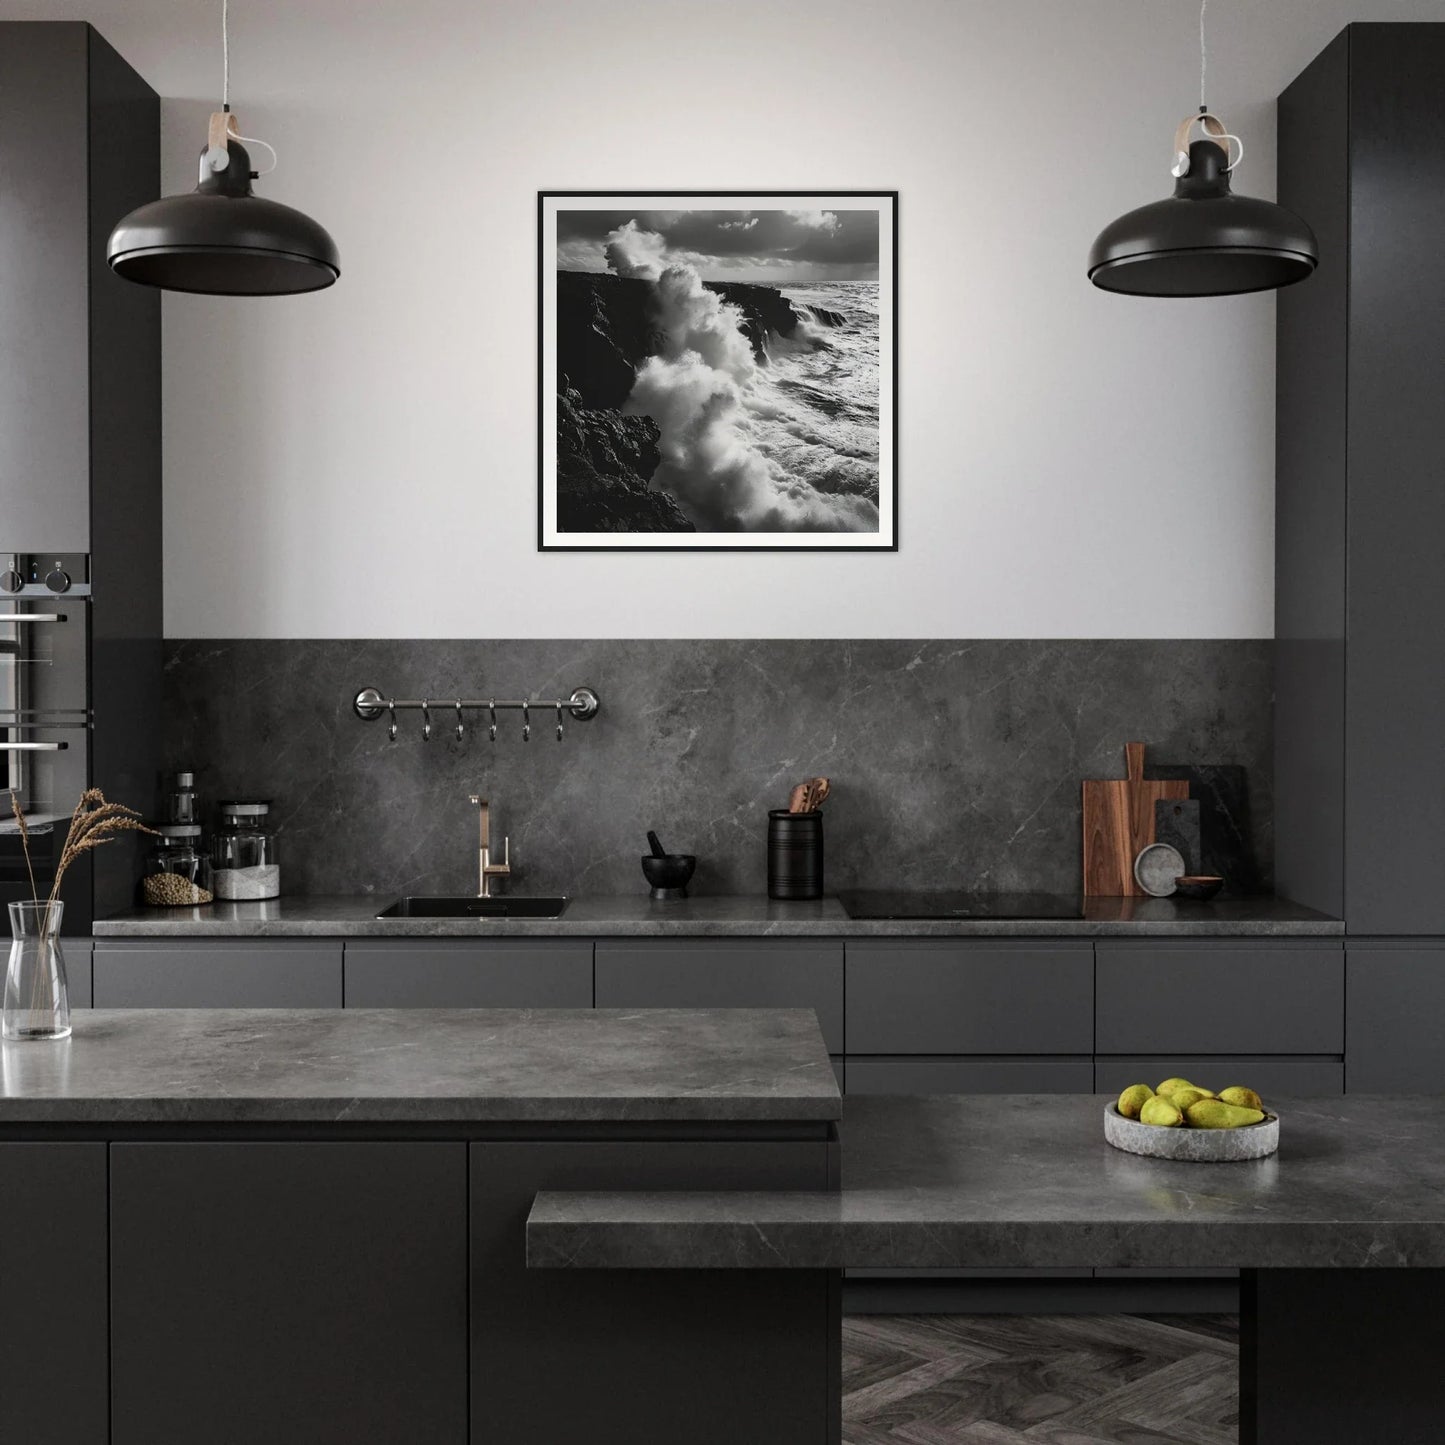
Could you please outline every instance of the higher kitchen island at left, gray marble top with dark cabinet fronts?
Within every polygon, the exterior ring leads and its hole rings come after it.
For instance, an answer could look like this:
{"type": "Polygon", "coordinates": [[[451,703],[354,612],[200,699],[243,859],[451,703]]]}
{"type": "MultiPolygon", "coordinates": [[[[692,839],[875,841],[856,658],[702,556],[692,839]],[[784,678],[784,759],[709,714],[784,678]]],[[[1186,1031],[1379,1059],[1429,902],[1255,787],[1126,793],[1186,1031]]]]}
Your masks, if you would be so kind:
{"type": "Polygon", "coordinates": [[[808,1012],[95,1010],[0,1068],[6,1438],[837,1439],[835,1272],[525,1259],[542,1189],[834,1186],[808,1012]]]}

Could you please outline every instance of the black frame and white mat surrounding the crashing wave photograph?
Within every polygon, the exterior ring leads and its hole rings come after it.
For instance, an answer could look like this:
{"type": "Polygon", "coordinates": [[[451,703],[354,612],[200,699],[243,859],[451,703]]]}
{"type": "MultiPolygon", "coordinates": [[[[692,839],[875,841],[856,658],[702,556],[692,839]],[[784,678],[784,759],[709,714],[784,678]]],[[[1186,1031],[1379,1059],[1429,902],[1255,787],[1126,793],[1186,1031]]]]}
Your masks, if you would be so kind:
{"type": "MultiPolygon", "coordinates": [[[[881,207],[880,207],[881,210],[881,207]]],[[[681,189],[681,191],[578,191],[578,189],[556,189],[556,191],[538,191],[538,551],[539,552],[897,552],[900,542],[900,517],[899,517],[899,192],[877,189],[877,191],[861,191],[861,189],[832,189],[832,191],[699,191],[699,189],[681,189]],[[555,288],[556,282],[556,246],[555,234],[549,234],[548,230],[548,204],[555,201],[639,201],[646,198],[650,201],[670,201],[670,199],[769,199],[769,201],[808,201],[808,199],[857,199],[857,201],[877,201],[886,202],[889,211],[889,276],[886,290],[883,286],[883,276],[880,276],[880,296],[886,295],[890,308],[889,315],[889,331],[890,331],[890,345],[887,353],[890,355],[889,367],[889,384],[884,389],[880,386],[880,400],[886,397],[887,400],[887,419],[889,419],[889,438],[887,447],[880,447],[880,460],[887,458],[887,487],[886,494],[889,499],[889,529],[887,538],[880,536],[877,540],[853,540],[848,543],[840,543],[837,540],[799,540],[799,542],[754,542],[746,540],[750,533],[724,533],[724,532],[708,532],[701,533],[707,538],[715,538],[717,540],[707,542],[665,542],[665,540],[649,540],[649,542],[634,542],[634,540],[617,540],[617,542],[600,542],[595,540],[598,533],[592,532],[558,532],[555,525],[549,529],[548,526],[548,487],[553,491],[553,509],[555,509],[555,465],[553,475],[548,477],[548,431],[549,425],[553,429],[555,436],[555,406],[548,406],[549,394],[555,397],[556,393],[556,379],[555,379],[555,345],[549,348],[548,345],[548,286],[549,277],[552,277],[551,285],[555,288]],[[551,532],[551,535],[549,535],[551,532]],[[731,536],[737,536],[738,540],[727,540],[731,536]],[[566,538],[568,540],[559,540],[559,538],[566,538]],[[572,540],[575,539],[575,540],[572,540]]],[[[881,413],[880,413],[880,431],[881,431],[881,413]]],[[[883,480],[880,478],[880,500],[884,496],[883,480]]],[[[880,517],[881,523],[881,517],[880,517]]],[[[637,536],[639,533],[624,533],[624,536],[637,536]]],[[[753,533],[756,536],[756,533],[753,533]]],[[[835,533],[798,533],[805,538],[819,538],[828,536],[835,538],[835,533]]],[[[676,536],[676,533],[660,533],[660,536],[676,536]]],[[[870,538],[871,533],[847,533],[851,538],[870,538]]]]}

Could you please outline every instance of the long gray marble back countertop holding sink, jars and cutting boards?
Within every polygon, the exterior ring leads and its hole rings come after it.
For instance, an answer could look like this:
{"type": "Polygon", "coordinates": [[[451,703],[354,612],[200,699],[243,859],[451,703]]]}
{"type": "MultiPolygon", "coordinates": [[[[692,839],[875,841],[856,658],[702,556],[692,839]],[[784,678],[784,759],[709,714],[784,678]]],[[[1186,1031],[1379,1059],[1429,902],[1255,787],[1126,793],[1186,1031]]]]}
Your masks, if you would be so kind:
{"type": "Polygon", "coordinates": [[[837,899],[775,903],[646,894],[572,899],[555,919],[386,918],[387,896],[282,897],[267,903],[136,909],[94,925],[97,938],[1299,938],[1344,923],[1283,899],[1192,903],[1090,899],[1071,919],[850,919],[837,899]]]}

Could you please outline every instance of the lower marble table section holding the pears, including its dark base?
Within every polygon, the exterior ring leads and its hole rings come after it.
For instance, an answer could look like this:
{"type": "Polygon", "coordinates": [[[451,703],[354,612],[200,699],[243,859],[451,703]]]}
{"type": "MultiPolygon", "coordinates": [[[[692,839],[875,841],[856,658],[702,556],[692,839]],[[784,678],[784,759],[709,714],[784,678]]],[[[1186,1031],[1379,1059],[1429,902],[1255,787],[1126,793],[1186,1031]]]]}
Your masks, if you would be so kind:
{"type": "Polygon", "coordinates": [[[1104,1097],[850,1098],[842,1189],[545,1192],[539,1272],[1231,1267],[1243,1445],[1433,1445],[1445,1419],[1435,1098],[1273,1101],[1280,1150],[1172,1163],[1104,1143],[1104,1097]]]}

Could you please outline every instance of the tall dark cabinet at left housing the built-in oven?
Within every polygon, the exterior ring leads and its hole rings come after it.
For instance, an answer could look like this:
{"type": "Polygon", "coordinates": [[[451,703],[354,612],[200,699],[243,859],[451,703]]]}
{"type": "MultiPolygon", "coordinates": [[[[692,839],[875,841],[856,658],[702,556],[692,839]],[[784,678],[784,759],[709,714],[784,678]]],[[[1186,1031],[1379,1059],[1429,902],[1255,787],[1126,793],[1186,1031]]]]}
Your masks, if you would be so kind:
{"type": "MultiPolygon", "coordinates": [[[[105,240],[159,189],[159,98],[104,38],[0,23],[0,789],[56,812],[88,785],[139,808],[156,789],[160,299],[105,240]]],[[[74,868],[68,933],[133,903],[134,848],[74,868]]],[[[0,897],[27,890],[0,837],[0,897]]]]}

